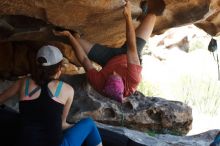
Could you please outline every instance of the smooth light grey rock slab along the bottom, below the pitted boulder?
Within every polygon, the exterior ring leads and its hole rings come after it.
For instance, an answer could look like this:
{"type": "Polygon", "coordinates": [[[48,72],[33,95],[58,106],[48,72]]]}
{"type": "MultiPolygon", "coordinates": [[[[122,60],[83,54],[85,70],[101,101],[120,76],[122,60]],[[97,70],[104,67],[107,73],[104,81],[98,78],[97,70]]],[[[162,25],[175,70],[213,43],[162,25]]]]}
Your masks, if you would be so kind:
{"type": "Polygon", "coordinates": [[[98,124],[98,127],[101,129],[101,136],[105,146],[209,146],[220,131],[218,129],[192,136],[174,136],[169,134],[147,134],[105,124],[98,124]],[[106,137],[107,134],[105,133],[107,132],[102,132],[102,129],[116,134],[106,137]],[[115,141],[112,141],[112,139],[115,141]]]}

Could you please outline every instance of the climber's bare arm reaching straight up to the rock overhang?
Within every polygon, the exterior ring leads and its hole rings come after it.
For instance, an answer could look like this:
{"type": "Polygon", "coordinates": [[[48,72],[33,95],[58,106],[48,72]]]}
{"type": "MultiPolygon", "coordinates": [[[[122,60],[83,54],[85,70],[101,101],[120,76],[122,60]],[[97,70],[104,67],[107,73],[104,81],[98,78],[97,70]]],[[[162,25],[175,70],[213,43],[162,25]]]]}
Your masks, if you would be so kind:
{"type": "Polygon", "coordinates": [[[131,4],[127,0],[124,8],[124,16],[126,21],[126,40],[128,45],[127,58],[128,62],[132,64],[140,65],[140,61],[137,54],[135,29],[132,23],[131,17],[131,4]]]}

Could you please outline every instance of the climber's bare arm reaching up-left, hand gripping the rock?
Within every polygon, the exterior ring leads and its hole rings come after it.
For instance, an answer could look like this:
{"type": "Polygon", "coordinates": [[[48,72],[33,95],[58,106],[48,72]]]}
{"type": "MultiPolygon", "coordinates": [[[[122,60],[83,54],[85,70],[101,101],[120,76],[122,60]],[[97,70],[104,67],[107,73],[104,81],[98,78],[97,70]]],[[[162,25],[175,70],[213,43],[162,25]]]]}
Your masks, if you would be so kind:
{"type": "Polygon", "coordinates": [[[91,60],[86,55],[86,53],[83,50],[80,43],[77,41],[77,39],[69,31],[54,32],[54,34],[57,36],[66,36],[69,38],[70,44],[72,45],[72,47],[76,53],[76,57],[78,58],[80,63],[83,65],[83,67],[85,68],[86,71],[94,68],[91,60]]]}

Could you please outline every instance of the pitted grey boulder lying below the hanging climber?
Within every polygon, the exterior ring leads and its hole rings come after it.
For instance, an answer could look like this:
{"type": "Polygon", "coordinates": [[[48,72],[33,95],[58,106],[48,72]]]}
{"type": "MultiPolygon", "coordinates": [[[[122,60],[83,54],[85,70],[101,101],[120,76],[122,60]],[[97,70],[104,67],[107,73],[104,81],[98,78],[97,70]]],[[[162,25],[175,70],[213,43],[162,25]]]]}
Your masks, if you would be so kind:
{"type": "Polygon", "coordinates": [[[69,121],[91,116],[101,123],[145,132],[149,130],[184,135],[191,130],[192,109],[186,104],[146,97],[140,92],[120,104],[98,94],[89,85],[80,87],[81,84],[85,85],[82,77],[84,76],[63,77],[64,81],[74,87],[76,93],[69,121]]]}

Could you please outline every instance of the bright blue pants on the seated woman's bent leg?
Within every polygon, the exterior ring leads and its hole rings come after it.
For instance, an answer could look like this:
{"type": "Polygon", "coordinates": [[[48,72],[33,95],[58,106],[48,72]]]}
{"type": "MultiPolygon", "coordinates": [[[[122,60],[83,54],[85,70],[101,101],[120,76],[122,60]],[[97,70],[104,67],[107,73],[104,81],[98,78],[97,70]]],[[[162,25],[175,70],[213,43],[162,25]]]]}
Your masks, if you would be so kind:
{"type": "Polygon", "coordinates": [[[88,146],[97,146],[101,143],[98,129],[91,118],[82,119],[67,129],[61,146],[81,146],[84,141],[88,146]]]}

